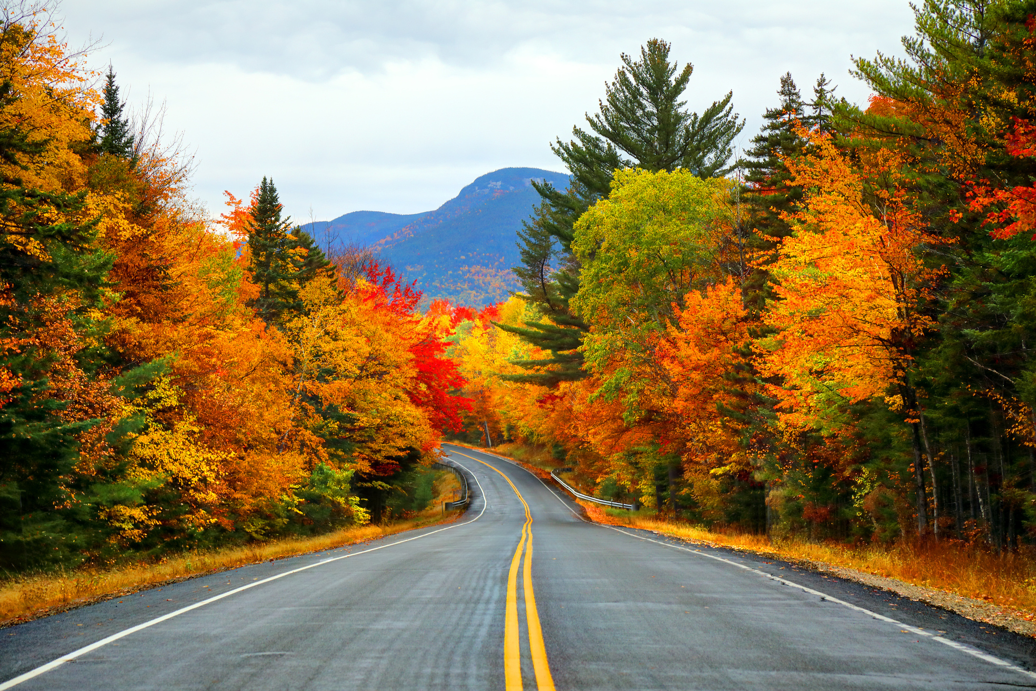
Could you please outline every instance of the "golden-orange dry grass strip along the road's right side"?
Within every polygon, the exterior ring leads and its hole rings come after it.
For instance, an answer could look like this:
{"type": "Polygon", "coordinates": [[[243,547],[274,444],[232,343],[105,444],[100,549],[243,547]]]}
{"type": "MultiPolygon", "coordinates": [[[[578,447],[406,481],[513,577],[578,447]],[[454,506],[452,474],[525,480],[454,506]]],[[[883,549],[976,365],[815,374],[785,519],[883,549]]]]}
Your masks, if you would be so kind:
{"type": "Polygon", "coordinates": [[[996,554],[952,540],[901,542],[892,546],[853,546],[799,541],[775,542],[766,536],[715,532],[700,526],[658,520],[620,510],[603,510],[580,501],[595,521],[656,530],[683,540],[779,556],[784,559],[833,565],[866,574],[894,578],[914,585],[985,600],[1036,618],[1036,559],[1032,554],[996,554]]]}

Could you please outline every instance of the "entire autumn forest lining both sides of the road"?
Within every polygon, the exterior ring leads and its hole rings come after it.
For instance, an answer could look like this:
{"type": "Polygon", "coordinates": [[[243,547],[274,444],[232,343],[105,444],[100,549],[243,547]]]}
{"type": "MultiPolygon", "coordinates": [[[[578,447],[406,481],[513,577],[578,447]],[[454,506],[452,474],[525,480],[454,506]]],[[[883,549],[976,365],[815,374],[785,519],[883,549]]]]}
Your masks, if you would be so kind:
{"type": "Polygon", "coordinates": [[[479,310],[321,247],[269,177],[202,208],[114,68],[8,13],[0,568],[391,521],[445,439],[773,539],[1033,543],[1036,0],[915,13],[867,104],[787,74],[743,151],[669,44],[621,56],[479,310]]]}

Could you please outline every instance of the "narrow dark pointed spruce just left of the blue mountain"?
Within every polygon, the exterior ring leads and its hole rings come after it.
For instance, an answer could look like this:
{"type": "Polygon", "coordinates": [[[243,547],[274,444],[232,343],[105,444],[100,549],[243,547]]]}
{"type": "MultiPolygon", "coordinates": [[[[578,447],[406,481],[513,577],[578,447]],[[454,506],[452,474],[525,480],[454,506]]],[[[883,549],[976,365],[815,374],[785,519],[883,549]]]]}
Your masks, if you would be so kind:
{"type": "Polygon", "coordinates": [[[249,250],[252,280],[259,286],[259,296],[252,300],[252,307],[267,323],[276,323],[298,303],[300,257],[294,252],[298,240],[292,235],[290,220],[281,218],[281,210],[274,180],[263,177],[252,208],[249,250]]]}

